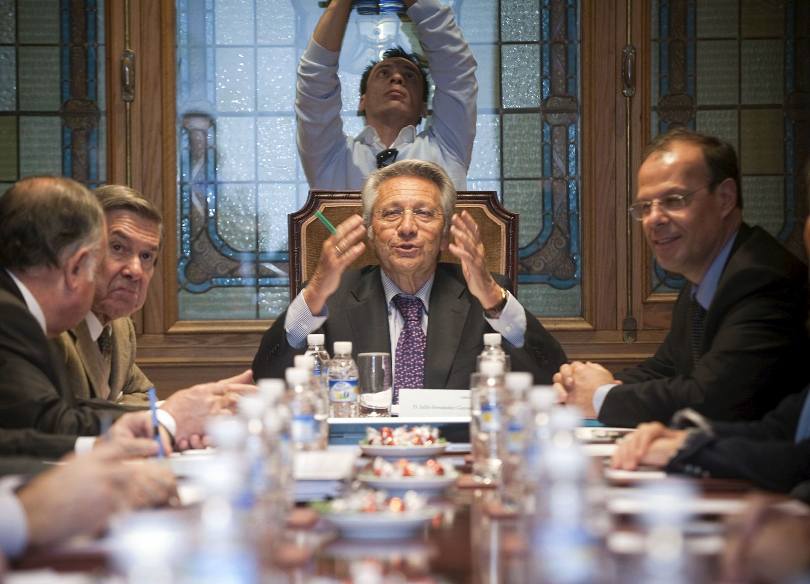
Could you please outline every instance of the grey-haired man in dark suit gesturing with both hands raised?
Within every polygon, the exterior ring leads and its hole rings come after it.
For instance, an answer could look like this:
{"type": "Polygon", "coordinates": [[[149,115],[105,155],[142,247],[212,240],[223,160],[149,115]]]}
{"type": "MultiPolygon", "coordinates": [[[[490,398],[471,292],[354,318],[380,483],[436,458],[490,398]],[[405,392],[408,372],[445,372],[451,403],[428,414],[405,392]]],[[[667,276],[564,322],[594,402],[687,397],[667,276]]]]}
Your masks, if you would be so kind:
{"type": "Polygon", "coordinates": [[[397,363],[401,340],[412,334],[424,343],[424,363],[399,386],[467,389],[484,333],[499,332],[513,369],[550,382],[565,353],[509,292],[507,279],[487,271],[478,226],[467,211],[454,215],[455,198],[444,170],[424,160],[369,175],[363,217],[353,215],[324,241],[309,284],[262,338],[254,377],[283,377],[292,357],[304,352],[306,335],[322,330],[327,343],[351,340],[355,355],[390,351],[396,387],[397,368],[404,371],[397,363]],[[380,265],[346,271],[365,249],[367,232],[380,265]],[[461,265],[438,264],[442,249],[461,265]],[[400,297],[416,302],[414,329],[400,297]]]}

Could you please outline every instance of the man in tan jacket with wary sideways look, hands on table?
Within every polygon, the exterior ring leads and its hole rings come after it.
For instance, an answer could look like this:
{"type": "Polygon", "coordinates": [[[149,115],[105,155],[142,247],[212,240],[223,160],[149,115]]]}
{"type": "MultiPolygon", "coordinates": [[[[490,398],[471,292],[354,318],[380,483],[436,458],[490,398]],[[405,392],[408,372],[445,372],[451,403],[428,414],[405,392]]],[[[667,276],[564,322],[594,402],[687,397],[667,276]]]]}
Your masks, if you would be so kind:
{"type": "MultiPolygon", "coordinates": [[[[105,185],[94,191],[106,219],[107,253],[96,271],[92,308],[83,321],[59,335],[59,352],[79,399],[100,398],[126,405],[148,405],[152,386],[135,364],[135,330],[130,316],[143,307],[163,245],[163,217],[138,191],[105,185]]],[[[160,423],[187,445],[201,446],[207,416],[229,411],[252,372],[176,391],[158,409],[160,423]],[[178,428],[180,433],[178,434],[178,428]]]]}

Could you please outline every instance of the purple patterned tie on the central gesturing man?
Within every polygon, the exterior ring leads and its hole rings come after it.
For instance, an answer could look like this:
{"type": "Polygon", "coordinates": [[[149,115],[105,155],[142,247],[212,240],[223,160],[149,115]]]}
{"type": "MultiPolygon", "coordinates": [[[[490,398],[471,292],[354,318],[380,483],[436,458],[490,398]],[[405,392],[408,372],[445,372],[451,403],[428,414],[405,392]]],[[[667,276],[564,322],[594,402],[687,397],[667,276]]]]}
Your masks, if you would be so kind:
{"type": "Polygon", "coordinates": [[[392,302],[405,321],[394,363],[394,403],[399,403],[400,387],[420,389],[424,386],[424,347],[428,339],[422,330],[422,301],[415,296],[397,294],[392,302]]]}

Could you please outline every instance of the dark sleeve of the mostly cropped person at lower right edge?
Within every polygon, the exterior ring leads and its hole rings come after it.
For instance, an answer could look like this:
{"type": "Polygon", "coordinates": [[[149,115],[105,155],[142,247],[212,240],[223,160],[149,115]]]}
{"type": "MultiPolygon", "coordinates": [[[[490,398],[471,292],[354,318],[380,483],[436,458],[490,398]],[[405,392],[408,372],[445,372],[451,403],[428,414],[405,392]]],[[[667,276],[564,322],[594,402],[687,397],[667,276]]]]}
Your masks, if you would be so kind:
{"type": "Polygon", "coordinates": [[[746,479],[779,492],[810,480],[810,440],[795,443],[808,392],[810,386],[788,395],[756,422],[712,422],[714,437],[698,434],[670,461],[667,470],[746,479]]]}

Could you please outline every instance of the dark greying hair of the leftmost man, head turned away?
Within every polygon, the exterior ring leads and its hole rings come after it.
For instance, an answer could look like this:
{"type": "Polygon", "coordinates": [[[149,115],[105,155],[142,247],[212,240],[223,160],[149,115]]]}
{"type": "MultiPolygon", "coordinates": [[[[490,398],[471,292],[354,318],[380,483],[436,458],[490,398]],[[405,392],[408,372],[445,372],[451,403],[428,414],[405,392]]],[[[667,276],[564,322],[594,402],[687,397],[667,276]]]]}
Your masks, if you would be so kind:
{"type": "Polygon", "coordinates": [[[62,266],[83,247],[98,249],[103,234],[99,202],[70,178],[23,178],[0,197],[0,267],[62,266]]]}

